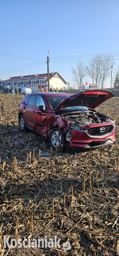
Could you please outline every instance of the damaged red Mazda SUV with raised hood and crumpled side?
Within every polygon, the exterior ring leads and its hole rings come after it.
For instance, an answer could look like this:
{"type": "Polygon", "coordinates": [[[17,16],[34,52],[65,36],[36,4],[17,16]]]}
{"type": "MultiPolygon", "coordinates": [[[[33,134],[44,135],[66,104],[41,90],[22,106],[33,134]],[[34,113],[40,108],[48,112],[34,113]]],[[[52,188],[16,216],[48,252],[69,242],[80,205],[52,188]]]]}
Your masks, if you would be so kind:
{"type": "Polygon", "coordinates": [[[20,128],[45,136],[54,150],[61,144],[81,149],[110,145],[115,139],[114,121],[94,108],[113,96],[103,90],[27,94],[19,104],[20,128]]]}

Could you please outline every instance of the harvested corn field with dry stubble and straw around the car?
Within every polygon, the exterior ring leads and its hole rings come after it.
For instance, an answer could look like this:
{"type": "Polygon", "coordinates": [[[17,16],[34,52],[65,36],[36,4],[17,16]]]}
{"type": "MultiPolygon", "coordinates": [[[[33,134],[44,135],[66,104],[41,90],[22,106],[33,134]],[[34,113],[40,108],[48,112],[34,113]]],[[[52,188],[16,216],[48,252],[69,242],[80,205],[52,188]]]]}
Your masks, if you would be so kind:
{"type": "Polygon", "coordinates": [[[119,98],[97,108],[115,120],[115,142],[66,153],[21,132],[22,98],[0,95],[0,255],[119,256],[119,98]],[[57,235],[60,247],[4,248],[4,235],[9,243],[57,235]],[[71,249],[63,248],[66,242],[71,249]]]}

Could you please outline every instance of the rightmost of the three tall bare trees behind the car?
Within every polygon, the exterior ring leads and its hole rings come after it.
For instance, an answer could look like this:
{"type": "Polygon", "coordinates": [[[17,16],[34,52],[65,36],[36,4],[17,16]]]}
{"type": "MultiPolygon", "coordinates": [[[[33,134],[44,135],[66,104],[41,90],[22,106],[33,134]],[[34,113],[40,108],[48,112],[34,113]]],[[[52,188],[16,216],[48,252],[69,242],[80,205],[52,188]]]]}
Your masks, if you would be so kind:
{"type": "Polygon", "coordinates": [[[102,84],[102,89],[104,88],[103,84],[104,81],[110,76],[111,74],[111,67],[114,65],[114,58],[111,54],[100,55],[100,80],[102,84]]]}

